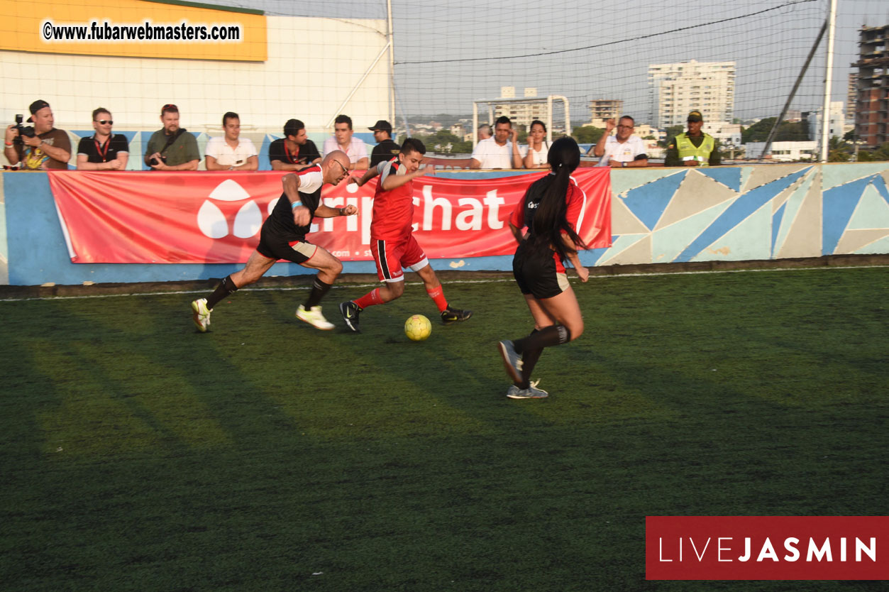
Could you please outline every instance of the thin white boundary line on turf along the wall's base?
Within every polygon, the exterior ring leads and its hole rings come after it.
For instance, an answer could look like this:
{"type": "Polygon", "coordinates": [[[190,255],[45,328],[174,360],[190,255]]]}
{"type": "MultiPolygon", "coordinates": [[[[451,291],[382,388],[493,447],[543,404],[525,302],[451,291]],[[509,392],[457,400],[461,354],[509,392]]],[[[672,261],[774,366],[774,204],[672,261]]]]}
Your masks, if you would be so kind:
{"type": "MultiPolygon", "coordinates": [[[[770,269],[708,269],[701,271],[658,271],[652,273],[636,273],[636,274],[618,274],[618,275],[601,275],[589,276],[590,280],[617,279],[621,277],[646,277],[646,276],[701,276],[704,274],[738,274],[748,272],[769,272],[769,271],[818,271],[824,269],[880,269],[889,268],[889,265],[846,265],[846,266],[820,266],[817,268],[770,268],[770,269]]],[[[569,278],[573,284],[578,283],[577,277],[569,278]]],[[[501,284],[503,282],[513,282],[510,277],[502,277],[496,279],[478,279],[478,280],[455,280],[453,282],[442,282],[442,284],[501,284]]],[[[340,288],[370,288],[378,287],[381,282],[373,284],[337,284],[332,289],[340,288]]],[[[407,282],[407,285],[422,285],[422,282],[407,282]]],[[[238,292],[287,292],[292,290],[311,290],[311,285],[268,287],[268,288],[243,288],[238,292]]],[[[29,300],[86,300],[92,298],[117,298],[125,296],[167,296],[177,294],[205,294],[211,292],[210,288],[204,290],[182,290],[174,292],[133,292],[129,294],[88,294],[84,296],[36,296],[33,298],[2,298],[0,302],[26,302],[29,300]]]]}

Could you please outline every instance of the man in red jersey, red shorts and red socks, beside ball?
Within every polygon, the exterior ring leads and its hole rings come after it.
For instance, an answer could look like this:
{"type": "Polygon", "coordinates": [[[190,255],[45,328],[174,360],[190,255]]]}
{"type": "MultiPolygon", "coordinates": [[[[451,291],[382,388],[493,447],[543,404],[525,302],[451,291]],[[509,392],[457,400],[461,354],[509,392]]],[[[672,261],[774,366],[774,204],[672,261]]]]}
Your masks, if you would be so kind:
{"type": "Polygon", "coordinates": [[[371,221],[371,252],[377,262],[377,276],[383,282],[357,300],[340,303],[340,313],[346,325],[358,333],[358,315],[364,308],[375,304],[385,304],[404,293],[404,272],[411,268],[417,272],[429,298],[435,301],[442,323],[452,324],[465,321],[472,316],[471,310],[451,308],[442,292],[442,284],[436,272],[429,265],[426,253],[413,237],[413,180],[426,173],[435,174],[432,166],[420,169],[420,161],[426,154],[423,142],[414,138],[404,140],[401,152],[395,158],[378,164],[364,176],[356,180],[358,186],[380,175],[376,194],[373,196],[373,219],[371,221]]]}

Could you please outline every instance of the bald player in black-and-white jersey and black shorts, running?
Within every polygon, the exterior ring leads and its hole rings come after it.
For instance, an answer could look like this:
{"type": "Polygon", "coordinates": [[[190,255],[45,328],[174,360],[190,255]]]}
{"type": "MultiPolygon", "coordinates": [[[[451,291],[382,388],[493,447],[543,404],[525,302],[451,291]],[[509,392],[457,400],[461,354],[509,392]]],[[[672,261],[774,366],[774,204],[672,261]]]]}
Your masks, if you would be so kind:
{"type": "Polygon", "coordinates": [[[308,298],[296,310],[296,317],[316,329],[330,330],[329,323],[321,314],[321,299],[342,271],[342,262],[323,247],[311,244],[306,235],[313,218],[353,216],[358,213],[354,205],[332,208],[321,201],[324,183],[338,185],[348,176],[348,156],[334,150],[324,156],[321,164],[308,169],[290,172],[281,178],[284,193],[278,198],[271,215],[262,224],[260,244],[252,252],[247,265],[226,276],[207,298],[191,303],[195,325],[199,332],[210,327],[210,313],[221,300],[228,298],[239,288],[260,279],[277,260],[288,260],[304,268],[317,269],[318,275],[308,292],[308,298]]]}

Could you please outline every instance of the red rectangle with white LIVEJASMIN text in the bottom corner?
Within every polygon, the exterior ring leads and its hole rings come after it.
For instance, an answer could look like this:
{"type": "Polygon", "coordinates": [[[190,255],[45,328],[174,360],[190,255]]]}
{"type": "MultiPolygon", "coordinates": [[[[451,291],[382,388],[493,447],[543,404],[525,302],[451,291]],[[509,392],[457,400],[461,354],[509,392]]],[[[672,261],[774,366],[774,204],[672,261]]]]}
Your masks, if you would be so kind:
{"type": "Polygon", "coordinates": [[[889,516],[646,516],[646,580],[889,580],[889,516]]]}

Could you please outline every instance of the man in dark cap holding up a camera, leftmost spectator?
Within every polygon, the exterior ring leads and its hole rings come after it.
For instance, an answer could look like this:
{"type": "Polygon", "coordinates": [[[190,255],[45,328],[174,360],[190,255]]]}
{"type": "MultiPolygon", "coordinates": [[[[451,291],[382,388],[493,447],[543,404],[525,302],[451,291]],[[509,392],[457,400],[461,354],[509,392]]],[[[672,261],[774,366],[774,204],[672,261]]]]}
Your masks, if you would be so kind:
{"type": "Polygon", "coordinates": [[[4,156],[10,164],[21,163],[28,171],[49,169],[67,170],[71,159],[71,140],[68,133],[53,127],[50,104],[45,100],[35,100],[30,107],[28,124],[34,124],[34,135],[20,135],[15,125],[6,127],[4,156]]]}

